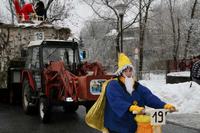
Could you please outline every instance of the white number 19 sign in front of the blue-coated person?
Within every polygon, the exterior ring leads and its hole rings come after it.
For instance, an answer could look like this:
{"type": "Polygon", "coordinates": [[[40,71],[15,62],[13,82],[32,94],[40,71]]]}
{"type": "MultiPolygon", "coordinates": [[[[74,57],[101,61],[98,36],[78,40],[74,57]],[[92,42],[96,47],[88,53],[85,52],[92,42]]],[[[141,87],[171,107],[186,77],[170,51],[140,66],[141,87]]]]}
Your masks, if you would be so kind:
{"type": "Polygon", "coordinates": [[[166,110],[155,109],[151,111],[151,125],[165,125],[166,110]]]}

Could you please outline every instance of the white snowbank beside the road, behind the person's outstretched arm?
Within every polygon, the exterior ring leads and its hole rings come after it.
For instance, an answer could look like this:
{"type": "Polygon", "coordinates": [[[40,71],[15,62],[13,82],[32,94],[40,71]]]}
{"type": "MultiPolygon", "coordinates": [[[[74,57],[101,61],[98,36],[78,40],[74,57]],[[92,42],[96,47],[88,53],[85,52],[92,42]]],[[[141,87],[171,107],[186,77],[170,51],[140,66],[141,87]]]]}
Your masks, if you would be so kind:
{"type": "Polygon", "coordinates": [[[171,103],[179,110],[177,113],[200,114],[200,85],[195,82],[184,82],[178,84],[166,84],[163,76],[156,76],[151,80],[139,81],[148,87],[155,95],[166,103],[171,103]]]}

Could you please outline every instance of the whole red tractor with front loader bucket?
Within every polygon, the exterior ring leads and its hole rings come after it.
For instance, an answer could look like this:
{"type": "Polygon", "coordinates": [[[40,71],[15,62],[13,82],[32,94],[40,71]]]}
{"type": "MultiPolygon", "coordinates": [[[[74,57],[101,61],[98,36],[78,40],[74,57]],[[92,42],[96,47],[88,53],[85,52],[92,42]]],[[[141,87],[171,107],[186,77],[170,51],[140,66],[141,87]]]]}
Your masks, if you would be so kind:
{"type": "Polygon", "coordinates": [[[32,41],[27,54],[21,72],[23,110],[30,114],[39,108],[44,123],[49,122],[56,105],[66,112],[84,105],[87,111],[98,98],[102,83],[112,77],[97,62],[81,63],[74,41],[32,41]]]}

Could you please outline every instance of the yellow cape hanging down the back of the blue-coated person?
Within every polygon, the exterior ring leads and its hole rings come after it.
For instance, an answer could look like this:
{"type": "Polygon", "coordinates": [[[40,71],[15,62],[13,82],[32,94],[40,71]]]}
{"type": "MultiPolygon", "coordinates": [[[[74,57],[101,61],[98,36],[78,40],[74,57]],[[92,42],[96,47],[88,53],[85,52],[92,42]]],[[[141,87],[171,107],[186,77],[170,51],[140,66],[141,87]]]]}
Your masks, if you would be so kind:
{"type": "Polygon", "coordinates": [[[110,80],[107,80],[102,85],[102,91],[95,102],[91,107],[85,117],[85,122],[88,126],[95,128],[103,133],[109,133],[108,130],[104,127],[104,108],[106,103],[106,86],[110,80]]]}

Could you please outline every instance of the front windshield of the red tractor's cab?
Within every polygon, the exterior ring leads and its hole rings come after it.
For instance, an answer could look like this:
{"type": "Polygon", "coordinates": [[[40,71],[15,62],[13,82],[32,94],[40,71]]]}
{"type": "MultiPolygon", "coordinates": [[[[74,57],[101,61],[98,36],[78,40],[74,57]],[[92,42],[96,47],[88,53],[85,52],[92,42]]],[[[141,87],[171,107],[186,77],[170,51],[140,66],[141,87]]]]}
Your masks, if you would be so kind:
{"type": "Polygon", "coordinates": [[[64,61],[65,64],[73,63],[73,50],[70,48],[43,48],[43,62],[49,64],[50,61],[64,61]]]}

